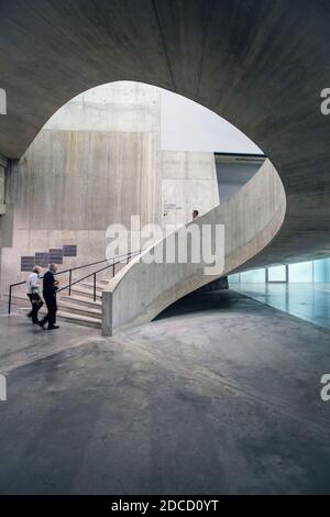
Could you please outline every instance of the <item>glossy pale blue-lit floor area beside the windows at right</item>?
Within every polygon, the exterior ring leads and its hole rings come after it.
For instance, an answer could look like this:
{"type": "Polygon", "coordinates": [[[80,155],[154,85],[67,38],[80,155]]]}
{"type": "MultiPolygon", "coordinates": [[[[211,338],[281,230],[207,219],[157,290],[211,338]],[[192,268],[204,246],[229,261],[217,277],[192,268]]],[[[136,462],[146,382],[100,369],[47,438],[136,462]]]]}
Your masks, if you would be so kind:
{"type": "Polygon", "coordinates": [[[235,284],[238,293],[330,329],[330,283],[235,284]]]}

